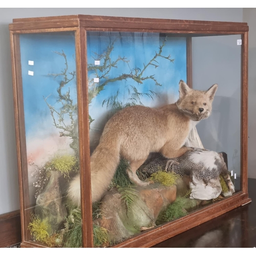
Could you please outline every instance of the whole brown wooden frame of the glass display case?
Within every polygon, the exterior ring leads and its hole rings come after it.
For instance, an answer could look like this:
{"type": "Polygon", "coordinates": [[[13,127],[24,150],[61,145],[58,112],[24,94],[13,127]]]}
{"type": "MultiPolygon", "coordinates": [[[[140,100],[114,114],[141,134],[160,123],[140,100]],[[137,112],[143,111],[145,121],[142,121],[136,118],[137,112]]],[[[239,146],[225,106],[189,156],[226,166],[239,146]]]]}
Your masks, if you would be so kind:
{"type": "Polygon", "coordinates": [[[127,18],[91,15],[70,15],[55,17],[13,19],[9,25],[12,57],[14,110],[16,126],[16,144],[18,156],[18,174],[20,191],[20,216],[22,222],[22,247],[46,247],[29,241],[27,231],[25,205],[28,205],[28,180],[25,124],[23,110],[22,80],[20,74],[20,52],[18,34],[74,31],[76,47],[77,92],[78,92],[78,123],[79,123],[79,154],[81,180],[81,212],[83,247],[93,247],[92,236],[92,203],[90,180],[90,141],[89,141],[89,110],[87,89],[87,31],[130,31],[159,32],[178,34],[187,37],[187,80],[192,82],[191,37],[211,35],[242,35],[242,74],[241,74],[241,191],[236,195],[204,207],[186,217],[164,224],[160,227],[132,237],[114,247],[150,247],[189,228],[224,214],[251,200],[247,188],[247,126],[248,126],[248,26],[246,23],[206,22],[196,20],[172,20],[151,18],[127,18]]]}

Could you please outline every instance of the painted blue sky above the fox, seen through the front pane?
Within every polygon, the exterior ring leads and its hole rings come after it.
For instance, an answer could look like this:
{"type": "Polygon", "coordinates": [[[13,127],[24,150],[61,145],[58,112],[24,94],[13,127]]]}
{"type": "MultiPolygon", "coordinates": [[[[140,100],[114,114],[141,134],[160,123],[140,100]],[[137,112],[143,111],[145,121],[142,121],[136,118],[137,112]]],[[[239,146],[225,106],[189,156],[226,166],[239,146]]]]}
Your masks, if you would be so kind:
{"type": "MultiPolygon", "coordinates": [[[[88,32],[88,63],[93,65],[94,60],[99,59],[97,54],[103,54],[108,45],[114,42],[114,49],[110,54],[111,61],[115,61],[120,56],[125,57],[129,62],[119,61],[116,68],[111,68],[111,71],[108,73],[108,79],[118,77],[122,74],[130,74],[132,69],[135,68],[143,70],[144,65],[147,65],[155,56],[156,52],[159,52],[159,47],[162,46],[164,39],[165,36],[161,36],[159,33],[88,32]]],[[[148,66],[143,76],[154,75],[154,78],[162,86],[156,86],[152,79],[144,80],[143,84],[139,84],[131,78],[106,84],[104,90],[90,104],[89,114],[95,119],[91,127],[95,126],[97,129],[97,116],[102,117],[103,113],[107,111],[106,105],[102,108],[102,102],[111,95],[115,95],[118,89],[120,95],[119,100],[123,103],[129,102],[129,97],[131,96],[127,94],[126,89],[130,85],[135,86],[140,93],[146,93],[148,90],[151,90],[160,96],[159,98],[154,97],[154,100],[147,96],[141,97],[141,102],[147,106],[157,105],[161,102],[161,96],[166,94],[178,99],[179,81],[180,79],[186,81],[186,38],[167,36],[161,55],[165,57],[170,55],[170,59],[174,59],[174,62],[158,56],[156,58],[157,62],[153,62],[158,67],[148,66]]],[[[103,60],[100,62],[100,65],[102,64],[103,60]]],[[[99,75],[101,74],[99,73],[99,75]]],[[[88,75],[90,79],[96,77],[94,71],[89,72],[88,75]]],[[[100,85],[102,82],[104,80],[100,80],[98,84],[100,85]]]]}

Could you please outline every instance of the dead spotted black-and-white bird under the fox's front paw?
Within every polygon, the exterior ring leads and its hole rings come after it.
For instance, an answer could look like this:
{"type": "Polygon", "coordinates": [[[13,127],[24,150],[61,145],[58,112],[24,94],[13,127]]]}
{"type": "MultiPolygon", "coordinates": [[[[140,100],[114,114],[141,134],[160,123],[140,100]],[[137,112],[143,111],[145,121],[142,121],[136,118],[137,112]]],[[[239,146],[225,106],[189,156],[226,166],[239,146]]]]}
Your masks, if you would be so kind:
{"type": "MultiPolygon", "coordinates": [[[[188,151],[181,157],[174,159],[158,155],[154,160],[143,164],[140,170],[147,176],[151,176],[159,170],[174,172],[181,177],[189,175],[192,183],[190,183],[190,188],[193,187],[194,190],[198,189],[199,186],[206,187],[207,185],[208,187],[220,187],[219,176],[222,174],[229,190],[234,193],[234,186],[230,180],[223,153],[194,148],[194,151],[188,151]]],[[[221,193],[219,188],[218,193],[221,193]]]]}

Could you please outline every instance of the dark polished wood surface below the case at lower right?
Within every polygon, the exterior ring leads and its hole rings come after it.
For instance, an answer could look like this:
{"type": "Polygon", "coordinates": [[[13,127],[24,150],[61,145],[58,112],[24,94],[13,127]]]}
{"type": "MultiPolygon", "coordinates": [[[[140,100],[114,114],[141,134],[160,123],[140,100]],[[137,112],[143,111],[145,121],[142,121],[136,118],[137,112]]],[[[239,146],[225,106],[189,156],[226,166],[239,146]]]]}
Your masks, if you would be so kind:
{"type": "Polygon", "coordinates": [[[203,223],[153,248],[256,247],[256,179],[248,179],[252,202],[203,223]]]}

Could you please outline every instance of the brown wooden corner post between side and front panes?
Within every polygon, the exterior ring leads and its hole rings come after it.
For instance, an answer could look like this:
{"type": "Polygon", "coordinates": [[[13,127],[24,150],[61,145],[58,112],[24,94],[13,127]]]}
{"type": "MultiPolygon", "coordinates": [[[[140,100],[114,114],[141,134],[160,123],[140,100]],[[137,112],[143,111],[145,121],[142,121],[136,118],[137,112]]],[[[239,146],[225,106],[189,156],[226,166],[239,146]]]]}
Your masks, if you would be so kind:
{"type": "Polygon", "coordinates": [[[76,34],[80,187],[83,247],[93,247],[86,30],[76,34]]]}

